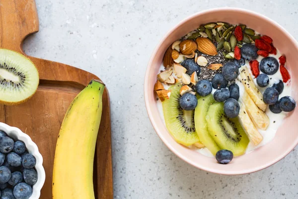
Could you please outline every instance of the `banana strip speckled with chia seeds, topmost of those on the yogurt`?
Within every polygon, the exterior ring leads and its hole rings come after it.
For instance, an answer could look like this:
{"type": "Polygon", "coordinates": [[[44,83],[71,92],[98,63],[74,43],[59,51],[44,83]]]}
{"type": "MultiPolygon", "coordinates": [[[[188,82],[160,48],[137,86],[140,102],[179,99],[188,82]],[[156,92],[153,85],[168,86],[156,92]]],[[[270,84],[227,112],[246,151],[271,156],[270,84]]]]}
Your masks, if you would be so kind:
{"type": "Polygon", "coordinates": [[[246,66],[241,68],[240,75],[238,77],[239,81],[243,84],[246,92],[251,97],[251,99],[261,110],[265,111],[267,108],[267,104],[263,101],[263,95],[254,84],[254,81],[246,66]]]}

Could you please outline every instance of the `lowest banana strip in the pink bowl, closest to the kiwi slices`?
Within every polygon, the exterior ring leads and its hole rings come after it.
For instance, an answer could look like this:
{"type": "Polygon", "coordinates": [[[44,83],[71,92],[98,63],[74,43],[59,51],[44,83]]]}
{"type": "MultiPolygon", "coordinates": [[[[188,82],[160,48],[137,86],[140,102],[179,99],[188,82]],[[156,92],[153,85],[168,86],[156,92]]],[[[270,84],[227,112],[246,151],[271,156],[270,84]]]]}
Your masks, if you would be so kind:
{"type": "Polygon", "coordinates": [[[240,104],[239,118],[249,140],[252,141],[255,146],[260,144],[260,142],[263,140],[263,136],[251,121],[248,111],[246,110],[243,103],[240,104]]]}

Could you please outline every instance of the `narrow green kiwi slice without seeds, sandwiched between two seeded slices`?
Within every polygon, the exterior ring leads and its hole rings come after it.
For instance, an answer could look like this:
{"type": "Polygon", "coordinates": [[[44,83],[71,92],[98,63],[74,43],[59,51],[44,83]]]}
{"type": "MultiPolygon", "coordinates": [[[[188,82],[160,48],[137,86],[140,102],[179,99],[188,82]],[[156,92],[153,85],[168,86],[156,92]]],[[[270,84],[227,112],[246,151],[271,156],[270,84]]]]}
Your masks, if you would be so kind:
{"type": "Polygon", "coordinates": [[[206,115],[207,111],[211,104],[216,101],[213,98],[213,95],[210,94],[208,96],[202,97],[198,100],[198,105],[195,109],[195,127],[197,134],[201,140],[201,142],[211,151],[213,155],[215,155],[221,148],[217,145],[214,139],[208,132],[207,123],[206,123],[206,115]]]}

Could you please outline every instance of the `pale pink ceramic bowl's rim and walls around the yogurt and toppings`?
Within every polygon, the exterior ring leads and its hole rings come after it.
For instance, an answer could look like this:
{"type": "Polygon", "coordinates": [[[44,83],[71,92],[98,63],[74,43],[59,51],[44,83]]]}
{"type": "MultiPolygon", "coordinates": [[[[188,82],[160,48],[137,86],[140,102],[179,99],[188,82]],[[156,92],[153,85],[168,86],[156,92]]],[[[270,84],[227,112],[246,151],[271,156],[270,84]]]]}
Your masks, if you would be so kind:
{"type": "Polygon", "coordinates": [[[178,143],[167,131],[156,105],[153,86],[162,64],[166,49],[200,24],[212,21],[226,21],[231,24],[246,24],[257,32],[272,37],[275,47],[287,56],[287,66],[292,75],[292,97],[298,100],[298,43],[282,26],[258,13],[238,8],[217,8],[196,13],[178,23],[171,29],[155,48],[148,64],[145,76],[145,101],[151,123],[165,145],[189,164],[213,173],[224,175],[247,174],[267,168],[289,154],[298,144],[298,108],[285,119],[274,139],[264,146],[235,157],[228,165],[218,164],[215,158],[206,157],[178,143]]]}

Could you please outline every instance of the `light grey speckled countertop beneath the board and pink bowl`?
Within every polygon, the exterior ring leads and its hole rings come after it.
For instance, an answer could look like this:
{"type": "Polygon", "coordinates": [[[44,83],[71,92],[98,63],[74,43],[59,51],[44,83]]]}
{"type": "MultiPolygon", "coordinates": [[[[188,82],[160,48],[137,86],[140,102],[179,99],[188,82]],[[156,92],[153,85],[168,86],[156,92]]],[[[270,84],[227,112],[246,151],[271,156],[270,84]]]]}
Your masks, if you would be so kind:
{"type": "Polygon", "coordinates": [[[198,170],[176,157],[149,121],[143,82],[159,39],[212,7],[251,9],[298,39],[297,0],[36,0],[40,31],[29,55],[99,76],[111,98],[114,197],[119,199],[298,199],[298,147],[279,163],[242,176],[198,170]]]}

